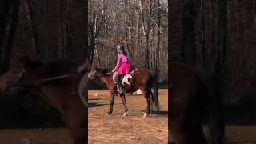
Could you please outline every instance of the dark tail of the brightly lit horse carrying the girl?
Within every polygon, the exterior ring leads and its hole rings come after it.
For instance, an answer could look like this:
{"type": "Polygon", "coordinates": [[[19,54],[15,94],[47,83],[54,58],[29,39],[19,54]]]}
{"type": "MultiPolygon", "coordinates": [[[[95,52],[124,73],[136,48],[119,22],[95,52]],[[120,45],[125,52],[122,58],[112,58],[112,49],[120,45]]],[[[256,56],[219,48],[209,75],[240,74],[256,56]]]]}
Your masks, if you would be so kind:
{"type": "Polygon", "coordinates": [[[158,99],[158,87],[157,87],[157,83],[154,81],[153,77],[152,77],[152,79],[153,79],[153,90],[152,90],[153,94],[151,93],[150,105],[151,105],[151,107],[154,108],[153,110],[159,111],[160,103],[159,103],[159,99],[158,99]]]}

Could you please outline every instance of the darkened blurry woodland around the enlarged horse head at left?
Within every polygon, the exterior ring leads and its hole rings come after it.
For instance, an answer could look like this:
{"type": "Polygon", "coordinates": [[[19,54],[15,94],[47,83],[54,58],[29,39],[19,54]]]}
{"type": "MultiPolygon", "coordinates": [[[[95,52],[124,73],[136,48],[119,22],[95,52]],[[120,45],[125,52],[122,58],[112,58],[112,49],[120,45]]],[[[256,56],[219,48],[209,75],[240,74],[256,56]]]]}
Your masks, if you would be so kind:
{"type": "MultiPolygon", "coordinates": [[[[78,64],[89,56],[87,1],[3,0],[0,7],[0,78],[8,83],[18,78],[24,54],[78,64]]],[[[31,94],[1,94],[0,123],[1,129],[63,126],[58,110],[31,94]]]]}

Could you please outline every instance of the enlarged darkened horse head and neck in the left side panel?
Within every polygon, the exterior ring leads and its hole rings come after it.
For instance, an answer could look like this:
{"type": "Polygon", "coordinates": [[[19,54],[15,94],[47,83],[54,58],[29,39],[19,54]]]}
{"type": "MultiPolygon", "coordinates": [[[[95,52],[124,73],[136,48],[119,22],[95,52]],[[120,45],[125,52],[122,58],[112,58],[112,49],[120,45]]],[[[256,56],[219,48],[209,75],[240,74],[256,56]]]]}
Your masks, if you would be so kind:
{"type": "MultiPolygon", "coordinates": [[[[75,144],[84,144],[87,124],[87,61],[79,68],[70,62],[41,62],[26,59],[18,81],[20,86],[57,108],[75,144]],[[78,68],[78,70],[77,70],[78,68]]],[[[8,88],[8,87],[7,87],[8,88]]]]}

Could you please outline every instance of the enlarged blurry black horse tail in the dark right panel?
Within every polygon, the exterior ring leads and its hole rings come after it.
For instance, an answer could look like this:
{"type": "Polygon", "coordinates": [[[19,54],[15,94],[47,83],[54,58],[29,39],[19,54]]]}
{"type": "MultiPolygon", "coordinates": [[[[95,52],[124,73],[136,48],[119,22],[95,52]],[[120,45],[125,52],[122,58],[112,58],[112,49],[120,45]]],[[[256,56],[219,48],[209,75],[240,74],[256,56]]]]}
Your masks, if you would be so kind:
{"type": "Polygon", "coordinates": [[[218,78],[212,78],[210,86],[207,86],[209,144],[222,144],[224,141],[225,124],[222,111],[222,101],[217,89],[218,78]]]}

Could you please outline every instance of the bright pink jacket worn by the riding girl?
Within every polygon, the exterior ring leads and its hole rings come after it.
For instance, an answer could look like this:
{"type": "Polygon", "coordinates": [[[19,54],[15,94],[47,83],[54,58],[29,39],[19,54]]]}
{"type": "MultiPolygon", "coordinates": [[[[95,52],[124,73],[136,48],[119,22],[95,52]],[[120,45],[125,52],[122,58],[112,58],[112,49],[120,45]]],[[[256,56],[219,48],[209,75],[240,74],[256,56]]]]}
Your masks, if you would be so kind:
{"type": "Polygon", "coordinates": [[[118,54],[118,62],[114,70],[116,70],[118,74],[128,74],[130,70],[130,66],[131,66],[130,62],[126,58],[126,55],[118,54]]]}

